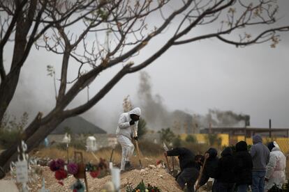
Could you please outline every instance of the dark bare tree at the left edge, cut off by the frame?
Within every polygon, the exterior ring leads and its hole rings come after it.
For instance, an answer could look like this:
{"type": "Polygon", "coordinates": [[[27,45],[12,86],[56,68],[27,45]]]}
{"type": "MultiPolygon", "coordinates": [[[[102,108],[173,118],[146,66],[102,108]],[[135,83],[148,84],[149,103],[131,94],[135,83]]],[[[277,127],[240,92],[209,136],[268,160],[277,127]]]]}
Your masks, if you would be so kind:
{"type": "MultiPolygon", "coordinates": [[[[73,15],[75,11],[86,10],[87,14],[96,10],[88,8],[94,1],[86,3],[68,3],[57,0],[1,0],[0,1],[0,122],[13,98],[20,77],[22,66],[29,56],[34,42],[43,36],[47,29],[59,22],[63,22],[73,15]],[[51,13],[59,11],[60,6],[69,8],[61,13],[61,18],[52,19],[51,13]],[[9,42],[13,43],[13,58],[10,70],[6,72],[4,67],[3,51],[9,42]]],[[[84,2],[84,1],[83,1],[84,2]]],[[[101,6],[101,5],[98,5],[101,6]]],[[[73,19],[77,22],[84,16],[73,19]]]]}

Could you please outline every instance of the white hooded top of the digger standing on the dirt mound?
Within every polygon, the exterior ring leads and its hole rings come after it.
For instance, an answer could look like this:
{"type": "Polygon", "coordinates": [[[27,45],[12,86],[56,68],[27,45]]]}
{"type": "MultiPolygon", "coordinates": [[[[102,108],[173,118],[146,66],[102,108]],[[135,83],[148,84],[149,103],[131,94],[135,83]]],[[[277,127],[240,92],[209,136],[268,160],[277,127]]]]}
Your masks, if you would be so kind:
{"type": "Polygon", "coordinates": [[[140,116],[140,113],[140,108],[138,107],[128,113],[122,113],[119,117],[116,134],[128,138],[131,138],[131,136],[138,136],[138,121],[136,121],[134,125],[129,125],[129,122],[131,121],[131,114],[140,116]]]}

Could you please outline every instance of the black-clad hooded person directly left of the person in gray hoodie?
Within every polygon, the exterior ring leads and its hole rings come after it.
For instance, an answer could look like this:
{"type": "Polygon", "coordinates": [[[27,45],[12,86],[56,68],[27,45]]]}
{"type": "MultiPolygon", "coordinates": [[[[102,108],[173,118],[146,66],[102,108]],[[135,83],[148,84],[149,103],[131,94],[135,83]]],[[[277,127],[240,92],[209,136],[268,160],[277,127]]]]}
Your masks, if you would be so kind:
{"type": "Polygon", "coordinates": [[[248,152],[248,145],[245,141],[239,141],[236,144],[234,168],[237,192],[246,192],[252,184],[252,168],[253,161],[248,152]]]}

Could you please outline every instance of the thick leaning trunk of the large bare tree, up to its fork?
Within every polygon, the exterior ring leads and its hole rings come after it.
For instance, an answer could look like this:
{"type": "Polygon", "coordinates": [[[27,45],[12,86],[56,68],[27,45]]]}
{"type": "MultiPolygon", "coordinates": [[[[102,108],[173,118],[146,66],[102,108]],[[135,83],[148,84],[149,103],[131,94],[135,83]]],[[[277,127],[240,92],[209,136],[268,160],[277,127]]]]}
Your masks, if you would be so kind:
{"type": "MultiPolygon", "coordinates": [[[[76,109],[63,111],[67,106],[56,106],[48,113],[44,118],[41,118],[42,114],[38,113],[35,120],[31,122],[29,127],[24,130],[22,134],[22,140],[27,143],[27,152],[30,152],[34,147],[37,147],[46,136],[48,136],[63,120],[66,118],[73,117],[84,111],[87,111],[98,103],[104,95],[106,95],[119,80],[127,74],[131,65],[126,65],[122,70],[120,70],[99,92],[94,95],[94,97],[89,100],[86,104],[78,106],[76,109]]],[[[73,99],[71,96],[69,99],[73,99]]],[[[3,170],[8,171],[10,162],[17,159],[17,146],[20,144],[20,141],[16,141],[12,147],[0,154],[0,166],[3,167],[3,170]]]]}

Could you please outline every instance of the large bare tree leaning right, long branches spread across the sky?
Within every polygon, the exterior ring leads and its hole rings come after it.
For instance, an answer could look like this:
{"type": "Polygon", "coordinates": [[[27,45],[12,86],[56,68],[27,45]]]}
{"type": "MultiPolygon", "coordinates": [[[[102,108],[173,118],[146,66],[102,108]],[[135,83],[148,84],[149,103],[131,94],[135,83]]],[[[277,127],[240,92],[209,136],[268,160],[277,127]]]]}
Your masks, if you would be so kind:
{"type": "MultiPolygon", "coordinates": [[[[43,1],[40,2],[43,5],[43,1]]],[[[47,3],[43,10],[50,22],[41,20],[41,24],[52,25],[40,34],[42,39],[36,43],[36,47],[62,56],[61,78],[54,108],[45,116],[38,113],[22,134],[28,151],[43,141],[63,120],[89,110],[126,74],[143,69],[174,45],[217,38],[237,47],[271,40],[271,46],[274,47],[279,42],[277,32],[289,31],[289,26],[268,29],[269,24],[277,20],[278,6],[274,0],[69,2],[63,0],[47,3]],[[71,13],[74,6],[77,9],[71,13]],[[66,12],[71,13],[69,19],[66,12]],[[162,18],[162,22],[147,22],[152,17],[162,18]],[[202,35],[193,33],[195,28],[207,25],[218,27],[202,35]],[[266,29],[263,28],[258,34],[249,33],[251,28],[259,26],[265,26],[266,29]],[[81,30],[75,30],[75,27],[81,30]],[[144,47],[154,47],[151,42],[165,31],[169,34],[163,45],[159,45],[159,49],[141,63],[133,63],[133,57],[137,57],[144,47]],[[79,70],[75,79],[68,81],[71,59],[79,64],[79,70]],[[121,65],[121,70],[98,93],[84,104],[69,109],[73,99],[91,82],[96,81],[98,74],[116,65],[121,65]]],[[[34,23],[37,23],[37,19],[34,19],[34,23]]],[[[3,168],[7,169],[9,162],[15,159],[16,146],[17,143],[0,155],[3,168]]]]}

